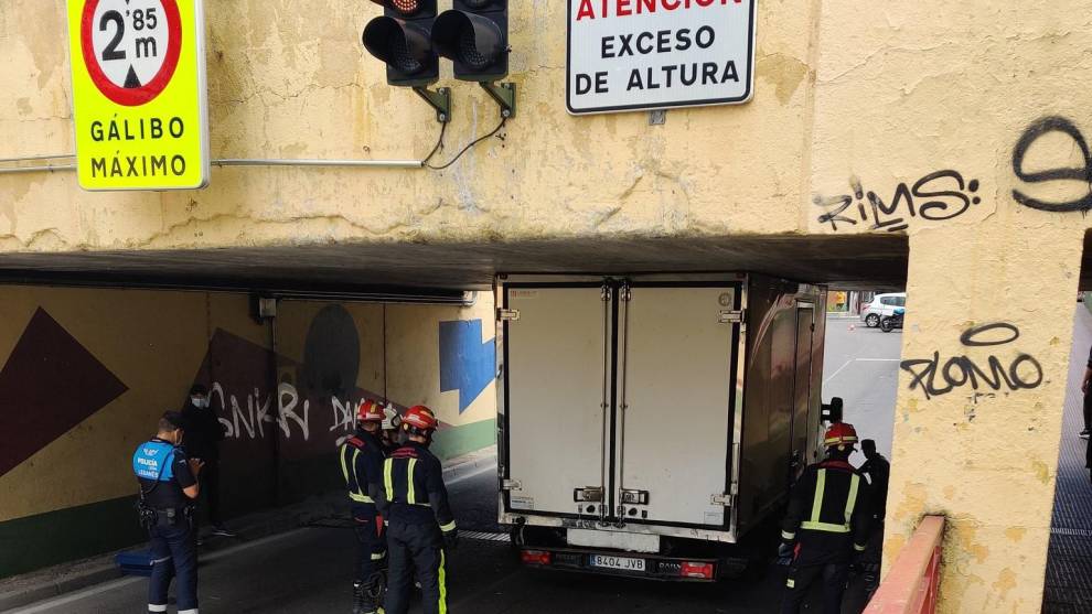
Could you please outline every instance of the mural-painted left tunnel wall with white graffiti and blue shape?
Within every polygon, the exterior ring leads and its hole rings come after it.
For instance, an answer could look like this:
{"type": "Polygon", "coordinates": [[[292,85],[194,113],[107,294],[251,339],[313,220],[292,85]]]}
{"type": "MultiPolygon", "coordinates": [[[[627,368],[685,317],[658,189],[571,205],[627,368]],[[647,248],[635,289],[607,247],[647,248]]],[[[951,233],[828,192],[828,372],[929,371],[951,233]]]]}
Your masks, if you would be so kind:
{"type": "Polygon", "coordinates": [[[0,288],[0,577],[140,541],[130,457],[193,384],[226,430],[228,517],[339,487],[336,445],[365,398],[435,409],[443,459],[491,445],[480,299],[280,301],[259,323],[244,294],[0,288]]]}

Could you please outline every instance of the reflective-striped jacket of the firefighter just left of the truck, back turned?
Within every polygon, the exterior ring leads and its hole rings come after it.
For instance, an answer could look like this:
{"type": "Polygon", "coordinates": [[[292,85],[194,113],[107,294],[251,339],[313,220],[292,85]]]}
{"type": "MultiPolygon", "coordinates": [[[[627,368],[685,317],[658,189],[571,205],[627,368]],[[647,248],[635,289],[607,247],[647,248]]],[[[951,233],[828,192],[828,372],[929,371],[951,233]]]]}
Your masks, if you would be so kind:
{"type": "Polygon", "coordinates": [[[415,441],[406,442],[384,462],[376,500],[392,523],[435,524],[443,532],[456,528],[440,460],[415,441]]]}

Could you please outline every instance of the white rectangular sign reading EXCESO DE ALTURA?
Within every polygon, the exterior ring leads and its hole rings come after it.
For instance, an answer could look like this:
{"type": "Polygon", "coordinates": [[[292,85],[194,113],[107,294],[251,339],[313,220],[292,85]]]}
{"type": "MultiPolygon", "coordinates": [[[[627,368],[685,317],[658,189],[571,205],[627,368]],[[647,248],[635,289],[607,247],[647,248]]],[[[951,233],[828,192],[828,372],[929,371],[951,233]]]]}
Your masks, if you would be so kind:
{"type": "Polygon", "coordinates": [[[570,114],[750,100],[757,0],[568,0],[570,114]]]}

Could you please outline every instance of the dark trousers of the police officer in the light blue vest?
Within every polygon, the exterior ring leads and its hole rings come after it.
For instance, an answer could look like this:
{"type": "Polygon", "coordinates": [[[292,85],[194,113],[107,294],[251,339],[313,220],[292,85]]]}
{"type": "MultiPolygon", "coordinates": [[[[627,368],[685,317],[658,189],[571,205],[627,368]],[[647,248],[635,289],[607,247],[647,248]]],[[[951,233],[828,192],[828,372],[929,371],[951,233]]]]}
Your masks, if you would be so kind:
{"type": "Polygon", "coordinates": [[[197,614],[197,551],[189,523],[157,525],[148,529],[152,574],[148,586],[148,612],[167,612],[171,580],[179,614],[197,614]]]}

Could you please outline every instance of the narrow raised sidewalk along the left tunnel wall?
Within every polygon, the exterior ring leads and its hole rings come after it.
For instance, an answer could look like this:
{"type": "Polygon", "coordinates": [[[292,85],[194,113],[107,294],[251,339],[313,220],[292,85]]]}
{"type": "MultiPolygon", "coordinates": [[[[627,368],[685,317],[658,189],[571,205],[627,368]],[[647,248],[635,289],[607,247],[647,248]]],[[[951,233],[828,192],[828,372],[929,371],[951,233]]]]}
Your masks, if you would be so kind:
{"type": "MultiPolygon", "coordinates": [[[[464,476],[489,471],[495,466],[496,446],[493,445],[451,459],[443,467],[443,478],[450,483],[464,476]]],[[[233,518],[228,525],[238,534],[238,537],[211,537],[207,535],[208,527],[204,527],[202,530],[203,545],[199,552],[208,554],[300,527],[338,525],[347,520],[347,511],[345,494],[338,491],[310,497],[298,504],[233,518]]],[[[146,548],[147,545],[140,545],[120,551],[143,550],[146,548]]],[[[121,572],[114,562],[117,552],[108,552],[90,559],[0,580],[0,612],[120,578],[121,572]]]]}

